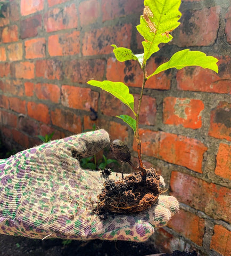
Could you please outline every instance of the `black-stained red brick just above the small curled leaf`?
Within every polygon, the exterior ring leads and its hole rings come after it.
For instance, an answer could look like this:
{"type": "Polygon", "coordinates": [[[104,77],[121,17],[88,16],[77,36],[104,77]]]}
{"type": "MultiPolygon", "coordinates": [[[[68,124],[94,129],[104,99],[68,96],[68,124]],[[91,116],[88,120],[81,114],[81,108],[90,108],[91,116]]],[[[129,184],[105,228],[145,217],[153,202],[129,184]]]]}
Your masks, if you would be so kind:
{"type": "Polygon", "coordinates": [[[92,29],[83,37],[83,54],[98,55],[112,52],[111,44],[130,48],[131,24],[92,29]]]}

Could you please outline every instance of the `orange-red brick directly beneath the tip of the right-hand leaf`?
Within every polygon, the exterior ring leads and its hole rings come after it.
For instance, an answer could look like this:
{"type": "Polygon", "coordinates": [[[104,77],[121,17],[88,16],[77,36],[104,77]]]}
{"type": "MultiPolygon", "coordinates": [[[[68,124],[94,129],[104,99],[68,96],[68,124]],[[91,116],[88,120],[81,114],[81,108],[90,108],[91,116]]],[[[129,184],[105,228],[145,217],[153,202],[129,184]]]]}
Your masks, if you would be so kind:
{"type": "Polygon", "coordinates": [[[218,58],[219,73],[201,67],[187,67],[177,72],[179,90],[231,93],[231,58],[218,58]]]}

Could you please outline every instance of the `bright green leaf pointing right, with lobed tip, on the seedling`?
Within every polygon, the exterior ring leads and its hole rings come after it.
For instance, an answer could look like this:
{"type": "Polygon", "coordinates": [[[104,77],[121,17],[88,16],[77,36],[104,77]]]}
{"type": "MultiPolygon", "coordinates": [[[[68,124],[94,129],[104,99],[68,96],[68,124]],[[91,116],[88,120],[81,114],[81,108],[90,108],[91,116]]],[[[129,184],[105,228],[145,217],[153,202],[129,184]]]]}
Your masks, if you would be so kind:
{"type": "Polygon", "coordinates": [[[200,51],[189,51],[188,49],[176,52],[172,55],[171,59],[160,65],[152,75],[147,77],[149,79],[151,76],[159,74],[161,71],[167,70],[169,68],[182,69],[189,66],[199,66],[202,68],[209,68],[218,73],[217,63],[218,59],[207,56],[205,53],[200,51]]]}

